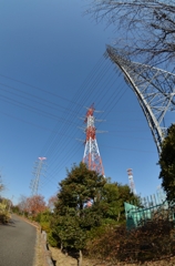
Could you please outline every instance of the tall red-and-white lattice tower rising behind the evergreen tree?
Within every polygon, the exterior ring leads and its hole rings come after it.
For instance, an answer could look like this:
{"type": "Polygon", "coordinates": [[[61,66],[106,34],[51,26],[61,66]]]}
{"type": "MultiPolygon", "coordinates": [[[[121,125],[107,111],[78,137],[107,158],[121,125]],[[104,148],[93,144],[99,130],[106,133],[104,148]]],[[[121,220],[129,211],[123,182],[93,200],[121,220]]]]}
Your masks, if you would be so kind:
{"type": "Polygon", "coordinates": [[[100,155],[97,142],[96,142],[96,129],[95,129],[95,119],[94,119],[94,105],[92,104],[89,108],[85,116],[85,149],[83,155],[83,163],[85,163],[89,170],[96,171],[99,174],[104,176],[104,168],[102,164],[102,158],[100,155]]]}

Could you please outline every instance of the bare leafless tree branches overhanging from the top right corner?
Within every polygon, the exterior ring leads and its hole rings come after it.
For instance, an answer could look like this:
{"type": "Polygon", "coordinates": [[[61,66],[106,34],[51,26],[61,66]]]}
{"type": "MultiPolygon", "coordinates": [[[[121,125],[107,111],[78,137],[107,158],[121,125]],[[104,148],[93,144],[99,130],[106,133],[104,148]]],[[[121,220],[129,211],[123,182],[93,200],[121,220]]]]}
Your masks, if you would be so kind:
{"type": "Polygon", "coordinates": [[[94,0],[86,13],[114,25],[114,45],[131,59],[154,65],[175,62],[175,1],[94,0]]]}

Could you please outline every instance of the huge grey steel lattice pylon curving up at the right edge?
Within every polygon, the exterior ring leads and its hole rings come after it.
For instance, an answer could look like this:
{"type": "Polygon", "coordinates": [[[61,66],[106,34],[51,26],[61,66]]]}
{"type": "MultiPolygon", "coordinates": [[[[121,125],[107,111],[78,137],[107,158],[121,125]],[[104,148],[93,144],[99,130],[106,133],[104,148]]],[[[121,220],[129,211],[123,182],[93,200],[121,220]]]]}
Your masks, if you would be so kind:
{"type": "Polygon", "coordinates": [[[146,116],[158,155],[166,135],[164,116],[175,110],[175,74],[151,65],[132,62],[107,45],[107,55],[124,73],[146,116]]]}

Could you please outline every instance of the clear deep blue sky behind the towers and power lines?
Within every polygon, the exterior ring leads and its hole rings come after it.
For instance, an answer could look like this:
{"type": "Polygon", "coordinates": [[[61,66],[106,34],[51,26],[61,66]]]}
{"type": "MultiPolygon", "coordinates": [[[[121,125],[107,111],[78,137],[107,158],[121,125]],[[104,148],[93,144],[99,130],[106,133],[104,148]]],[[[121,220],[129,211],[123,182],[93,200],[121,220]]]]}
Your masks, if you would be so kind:
{"type": "MultiPolygon", "coordinates": [[[[137,100],[104,58],[116,34],[83,16],[89,1],[0,2],[0,171],[3,196],[30,196],[33,165],[47,157],[39,193],[58,191],[65,168],[82,161],[80,127],[86,106],[95,109],[105,176],[127,184],[133,168],[138,194],[156,192],[158,156],[137,100]]],[[[169,116],[167,123],[173,122],[169,116]]]]}

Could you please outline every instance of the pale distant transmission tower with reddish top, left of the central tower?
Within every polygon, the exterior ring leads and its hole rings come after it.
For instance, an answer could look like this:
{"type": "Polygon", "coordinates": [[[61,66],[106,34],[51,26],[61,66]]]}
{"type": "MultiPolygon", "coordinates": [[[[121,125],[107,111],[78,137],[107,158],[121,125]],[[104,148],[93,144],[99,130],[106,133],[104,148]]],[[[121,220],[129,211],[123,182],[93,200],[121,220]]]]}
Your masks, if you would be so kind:
{"type": "Polygon", "coordinates": [[[39,191],[39,183],[40,183],[40,176],[43,174],[43,165],[47,157],[39,157],[39,161],[35,162],[33,175],[34,180],[31,181],[30,188],[32,191],[32,195],[38,195],[39,191]]]}

